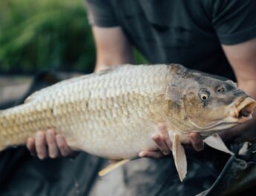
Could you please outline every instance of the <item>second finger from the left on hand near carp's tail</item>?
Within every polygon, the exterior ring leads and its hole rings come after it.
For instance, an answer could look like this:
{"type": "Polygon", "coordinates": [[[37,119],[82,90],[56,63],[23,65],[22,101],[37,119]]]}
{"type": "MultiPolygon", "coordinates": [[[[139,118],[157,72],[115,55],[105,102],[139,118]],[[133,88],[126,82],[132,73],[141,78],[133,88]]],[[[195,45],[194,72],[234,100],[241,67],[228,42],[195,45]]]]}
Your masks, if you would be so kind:
{"type": "Polygon", "coordinates": [[[36,153],[40,159],[47,158],[48,156],[44,132],[36,133],[36,153]]]}

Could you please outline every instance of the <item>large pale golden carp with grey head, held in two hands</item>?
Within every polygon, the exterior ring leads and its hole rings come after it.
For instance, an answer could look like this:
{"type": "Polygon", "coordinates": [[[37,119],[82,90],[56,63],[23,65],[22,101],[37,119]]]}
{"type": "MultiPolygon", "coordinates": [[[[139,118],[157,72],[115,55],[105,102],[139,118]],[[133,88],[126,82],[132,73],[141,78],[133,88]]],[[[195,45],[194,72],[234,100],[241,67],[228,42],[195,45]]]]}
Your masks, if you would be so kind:
{"type": "Polygon", "coordinates": [[[189,142],[189,133],[200,132],[210,146],[229,152],[219,137],[207,137],[246,123],[254,108],[255,101],[226,78],[179,64],[122,65],[59,82],[1,110],[0,149],[53,127],[73,149],[120,160],[111,170],[142,150],[157,149],[151,135],[165,123],[183,180],[187,162],[181,143],[189,142]]]}

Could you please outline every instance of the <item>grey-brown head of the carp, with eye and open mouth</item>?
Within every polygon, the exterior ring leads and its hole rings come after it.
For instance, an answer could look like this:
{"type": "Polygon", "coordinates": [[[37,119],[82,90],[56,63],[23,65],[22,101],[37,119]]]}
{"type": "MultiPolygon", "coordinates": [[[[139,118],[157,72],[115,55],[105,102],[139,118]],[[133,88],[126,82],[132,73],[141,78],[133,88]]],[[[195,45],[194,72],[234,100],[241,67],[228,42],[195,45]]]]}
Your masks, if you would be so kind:
{"type": "Polygon", "coordinates": [[[180,94],[177,97],[174,91],[172,103],[177,103],[177,98],[180,99],[179,109],[183,114],[183,124],[190,131],[229,129],[252,118],[256,107],[255,100],[227,78],[188,70],[177,82],[180,89],[176,93],[180,94]]]}

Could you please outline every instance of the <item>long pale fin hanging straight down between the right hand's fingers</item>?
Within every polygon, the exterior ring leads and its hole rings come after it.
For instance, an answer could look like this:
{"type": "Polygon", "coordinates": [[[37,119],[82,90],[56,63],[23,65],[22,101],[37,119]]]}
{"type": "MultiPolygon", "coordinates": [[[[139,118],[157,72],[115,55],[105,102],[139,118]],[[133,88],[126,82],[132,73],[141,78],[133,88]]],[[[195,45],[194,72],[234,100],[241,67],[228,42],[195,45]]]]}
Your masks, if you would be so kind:
{"type": "Polygon", "coordinates": [[[182,182],[187,174],[187,160],[185,150],[179,140],[179,135],[175,133],[172,141],[172,155],[174,155],[174,163],[182,182]]]}

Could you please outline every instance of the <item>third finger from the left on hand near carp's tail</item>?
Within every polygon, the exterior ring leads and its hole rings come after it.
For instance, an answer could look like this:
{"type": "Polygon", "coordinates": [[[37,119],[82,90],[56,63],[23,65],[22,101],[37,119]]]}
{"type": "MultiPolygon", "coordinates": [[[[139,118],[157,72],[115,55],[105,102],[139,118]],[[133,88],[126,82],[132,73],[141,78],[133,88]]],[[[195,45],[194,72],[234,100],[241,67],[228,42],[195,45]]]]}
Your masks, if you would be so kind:
{"type": "Polygon", "coordinates": [[[47,130],[46,141],[50,158],[57,158],[59,156],[59,150],[55,140],[55,132],[53,131],[53,129],[47,130]]]}

